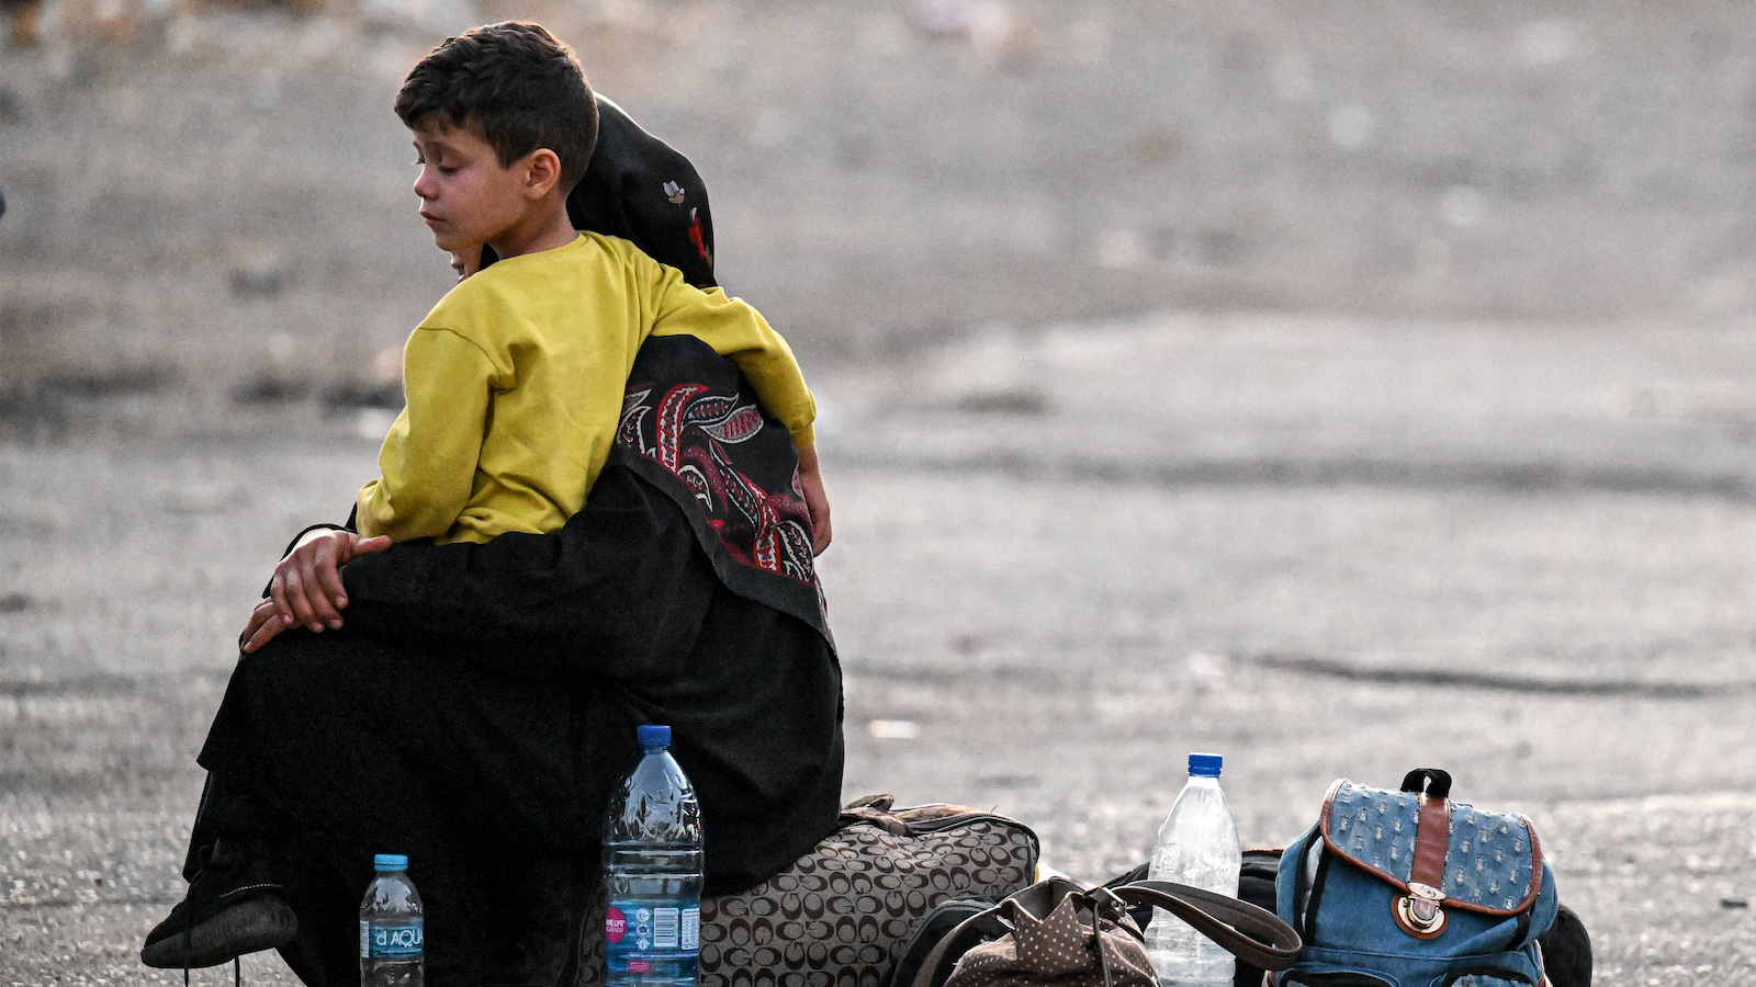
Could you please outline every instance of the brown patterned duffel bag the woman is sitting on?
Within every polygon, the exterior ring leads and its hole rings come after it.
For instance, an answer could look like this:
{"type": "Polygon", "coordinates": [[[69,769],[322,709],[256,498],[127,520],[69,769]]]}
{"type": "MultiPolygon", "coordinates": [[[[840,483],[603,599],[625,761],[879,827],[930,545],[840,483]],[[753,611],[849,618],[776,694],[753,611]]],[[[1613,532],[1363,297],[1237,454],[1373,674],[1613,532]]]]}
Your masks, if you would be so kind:
{"type": "MultiPolygon", "coordinates": [[[[701,899],[699,987],[878,987],[929,911],[1029,887],[1040,852],[1036,832],[1003,815],[857,799],[785,871],[701,899]]],[[[588,938],[579,987],[602,983],[602,936],[588,938]]]]}

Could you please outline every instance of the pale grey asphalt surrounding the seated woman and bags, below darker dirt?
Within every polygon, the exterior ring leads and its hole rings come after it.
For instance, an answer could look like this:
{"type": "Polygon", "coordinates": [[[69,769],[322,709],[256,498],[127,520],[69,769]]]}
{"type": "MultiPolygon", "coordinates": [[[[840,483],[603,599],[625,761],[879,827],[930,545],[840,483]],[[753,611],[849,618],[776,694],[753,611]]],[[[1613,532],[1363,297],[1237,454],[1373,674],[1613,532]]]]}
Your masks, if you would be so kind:
{"type": "MultiPolygon", "coordinates": [[[[1440,766],[1535,818],[1601,983],[1756,983],[1752,362],[1737,327],[1166,314],[822,371],[846,794],[997,808],[1103,878],[1189,750],[1249,845],[1440,766]]],[[[135,950],[234,636],[381,427],[260,414],[0,446],[0,983],[181,980],[135,950]]]]}

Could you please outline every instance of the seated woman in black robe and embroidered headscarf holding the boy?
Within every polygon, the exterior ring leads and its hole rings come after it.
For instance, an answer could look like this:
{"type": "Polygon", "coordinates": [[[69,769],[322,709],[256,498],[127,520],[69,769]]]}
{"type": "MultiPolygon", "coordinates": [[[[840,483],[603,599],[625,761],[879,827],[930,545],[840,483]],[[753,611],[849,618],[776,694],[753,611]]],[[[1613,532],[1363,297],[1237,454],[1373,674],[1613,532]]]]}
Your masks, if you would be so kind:
{"type": "MultiPolygon", "coordinates": [[[[711,285],[699,176],[601,109],[574,225],[711,285]]],[[[673,420],[702,427],[660,434],[658,414],[632,416],[560,532],[369,553],[344,529],[295,539],[281,571],[341,564],[346,623],[276,634],[276,604],[258,606],[198,757],[190,894],[142,961],[279,948],[306,983],[351,982],[372,854],[395,852],[427,903],[430,983],[567,983],[581,936],[602,934],[579,926],[608,794],[639,760],[644,722],[673,727],[701,797],[706,894],[759,883],[827,836],[839,666],[790,437],[727,443],[711,427],[709,413],[753,409],[745,386],[692,339],[643,348],[630,407],[692,399],[673,420]]]]}

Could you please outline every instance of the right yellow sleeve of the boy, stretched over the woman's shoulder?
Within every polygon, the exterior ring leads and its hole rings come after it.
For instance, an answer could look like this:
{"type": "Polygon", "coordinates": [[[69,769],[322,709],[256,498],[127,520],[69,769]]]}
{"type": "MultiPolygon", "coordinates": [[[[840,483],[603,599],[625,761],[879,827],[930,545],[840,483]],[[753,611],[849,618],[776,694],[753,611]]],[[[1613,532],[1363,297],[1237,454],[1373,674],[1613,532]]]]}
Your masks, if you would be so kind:
{"type": "Polygon", "coordinates": [[[674,267],[648,262],[657,299],[653,335],[694,335],[729,357],[750,378],[757,400],[792,432],[794,446],[817,443],[817,399],[804,386],[804,374],[787,341],[753,307],[725,297],[720,288],[702,292],[674,267]]]}

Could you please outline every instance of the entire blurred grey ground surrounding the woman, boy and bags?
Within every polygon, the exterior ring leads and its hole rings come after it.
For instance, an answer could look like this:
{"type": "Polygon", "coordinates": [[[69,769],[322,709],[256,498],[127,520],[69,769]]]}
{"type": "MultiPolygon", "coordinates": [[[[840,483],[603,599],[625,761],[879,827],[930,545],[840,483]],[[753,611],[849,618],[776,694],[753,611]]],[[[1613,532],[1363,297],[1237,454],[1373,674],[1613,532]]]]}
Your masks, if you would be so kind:
{"type": "Polygon", "coordinates": [[[1435,764],[1603,982],[1756,983],[1747,4],[0,14],[0,982],[151,982],[232,639],[451,285],[392,97],[518,16],[820,399],[848,796],[1103,878],[1189,750],[1249,845],[1435,764]]]}

